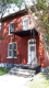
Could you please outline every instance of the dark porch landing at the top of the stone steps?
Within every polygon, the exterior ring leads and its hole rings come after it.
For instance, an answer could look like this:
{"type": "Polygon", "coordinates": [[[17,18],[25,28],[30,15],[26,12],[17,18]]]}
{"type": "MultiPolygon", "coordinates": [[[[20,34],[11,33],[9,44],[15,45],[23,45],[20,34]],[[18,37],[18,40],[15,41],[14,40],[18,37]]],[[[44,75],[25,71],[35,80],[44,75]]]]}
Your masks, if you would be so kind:
{"type": "Polygon", "coordinates": [[[22,68],[22,69],[29,69],[35,70],[36,73],[40,72],[41,66],[39,64],[30,65],[30,64],[16,64],[14,67],[22,68]]]}

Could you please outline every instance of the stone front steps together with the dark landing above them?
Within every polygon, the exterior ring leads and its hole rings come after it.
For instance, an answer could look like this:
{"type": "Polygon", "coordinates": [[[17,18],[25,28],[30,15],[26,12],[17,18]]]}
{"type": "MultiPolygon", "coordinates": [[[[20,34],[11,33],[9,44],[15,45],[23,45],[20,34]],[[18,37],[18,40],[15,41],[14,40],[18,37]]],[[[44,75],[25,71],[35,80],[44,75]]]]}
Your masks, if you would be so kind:
{"type": "Polygon", "coordinates": [[[16,64],[9,72],[10,75],[16,75],[21,77],[33,77],[34,75],[40,73],[40,65],[33,66],[29,68],[29,65],[16,64]]]}

